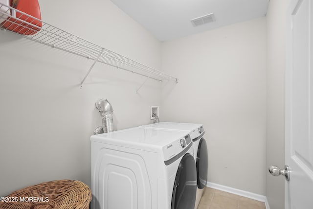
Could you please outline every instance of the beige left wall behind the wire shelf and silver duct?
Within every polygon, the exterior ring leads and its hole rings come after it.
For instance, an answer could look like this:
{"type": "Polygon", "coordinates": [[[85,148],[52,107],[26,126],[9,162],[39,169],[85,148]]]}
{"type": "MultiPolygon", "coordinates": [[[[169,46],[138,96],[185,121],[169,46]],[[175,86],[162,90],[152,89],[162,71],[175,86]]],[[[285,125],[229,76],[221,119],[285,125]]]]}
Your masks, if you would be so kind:
{"type": "MultiPolygon", "coordinates": [[[[45,22],[151,67],[160,42],[110,0],[39,0],[45,22]]],[[[101,125],[97,99],[113,106],[114,126],[150,122],[161,83],[96,64],[0,30],[0,196],[57,179],[90,184],[90,135],[101,125]]]]}

